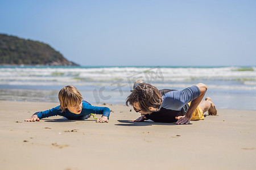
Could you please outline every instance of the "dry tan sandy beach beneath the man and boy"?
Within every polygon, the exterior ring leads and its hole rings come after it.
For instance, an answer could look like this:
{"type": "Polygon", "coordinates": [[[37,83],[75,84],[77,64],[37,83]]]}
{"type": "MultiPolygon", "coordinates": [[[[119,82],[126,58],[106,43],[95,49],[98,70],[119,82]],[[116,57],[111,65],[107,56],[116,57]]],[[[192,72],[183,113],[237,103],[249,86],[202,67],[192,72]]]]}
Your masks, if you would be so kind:
{"type": "Polygon", "coordinates": [[[256,169],[256,111],[220,109],[175,125],[131,122],[139,113],[107,104],[108,124],[24,122],[57,105],[0,101],[0,169],[256,169]]]}

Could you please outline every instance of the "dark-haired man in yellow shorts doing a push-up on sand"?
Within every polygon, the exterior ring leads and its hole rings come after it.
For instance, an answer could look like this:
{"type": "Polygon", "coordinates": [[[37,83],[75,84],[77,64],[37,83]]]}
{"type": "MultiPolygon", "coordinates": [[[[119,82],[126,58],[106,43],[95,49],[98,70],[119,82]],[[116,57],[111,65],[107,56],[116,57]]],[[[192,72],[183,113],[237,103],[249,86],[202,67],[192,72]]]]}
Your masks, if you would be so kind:
{"type": "Polygon", "coordinates": [[[204,119],[204,112],[217,114],[210,97],[201,101],[206,91],[207,86],[203,83],[176,91],[158,90],[139,80],[134,83],[134,90],[127,97],[126,105],[132,105],[135,112],[141,113],[141,117],[133,120],[135,122],[150,119],[155,122],[177,121],[176,124],[189,124],[190,120],[204,119]]]}

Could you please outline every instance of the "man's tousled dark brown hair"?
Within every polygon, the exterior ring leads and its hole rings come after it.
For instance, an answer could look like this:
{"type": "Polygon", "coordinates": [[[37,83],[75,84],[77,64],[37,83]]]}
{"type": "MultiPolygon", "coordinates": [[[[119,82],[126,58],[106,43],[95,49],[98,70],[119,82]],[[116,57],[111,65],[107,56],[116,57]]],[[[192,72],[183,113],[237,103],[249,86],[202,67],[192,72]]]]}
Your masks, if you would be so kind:
{"type": "Polygon", "coordinates": [[[126,99],[126,105],[134,105],[138,102],[139,107],[143,112],[152,112],[149,107],[158,109],[162,104],[161,94],[155,86],[147,83],[140,83],[134,90],[131,91],[131,94],[126,99]]]}

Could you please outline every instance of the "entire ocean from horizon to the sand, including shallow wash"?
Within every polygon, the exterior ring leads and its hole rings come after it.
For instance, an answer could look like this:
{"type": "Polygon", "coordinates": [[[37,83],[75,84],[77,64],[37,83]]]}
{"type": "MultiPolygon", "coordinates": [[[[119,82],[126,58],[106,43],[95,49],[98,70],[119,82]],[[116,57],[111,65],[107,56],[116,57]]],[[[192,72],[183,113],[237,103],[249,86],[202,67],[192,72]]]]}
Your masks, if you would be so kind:
{"type": "Polygon", "coordinates": [[[0,66],[0,100],[59,102],[59,90],[72,85],[92,104],[125,104],[138,79],[176,90],[201,82],[218,109],[256,110],[256,66],[0,66]]]}

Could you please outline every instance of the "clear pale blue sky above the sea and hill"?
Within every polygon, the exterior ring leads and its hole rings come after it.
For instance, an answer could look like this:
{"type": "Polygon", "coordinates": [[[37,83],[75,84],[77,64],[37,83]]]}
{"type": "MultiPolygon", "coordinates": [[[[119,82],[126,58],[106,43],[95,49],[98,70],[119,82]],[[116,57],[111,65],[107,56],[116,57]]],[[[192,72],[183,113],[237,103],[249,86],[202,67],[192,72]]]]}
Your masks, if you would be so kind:
{"type": "Polygon", "coordinates": [[[83,66],[255,66],[256,1],[0,2],[0,33],[83,66]]]}

